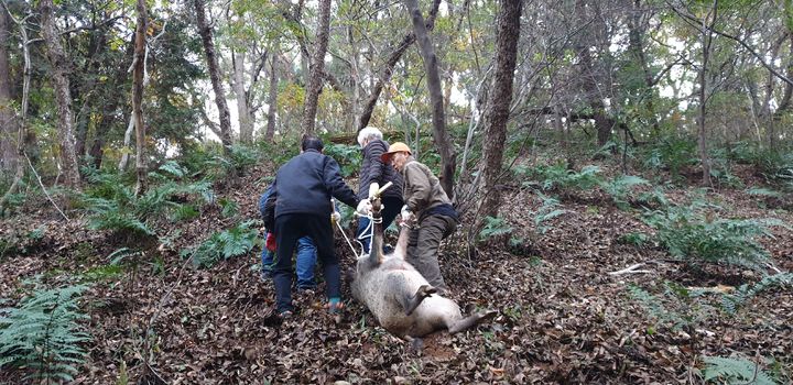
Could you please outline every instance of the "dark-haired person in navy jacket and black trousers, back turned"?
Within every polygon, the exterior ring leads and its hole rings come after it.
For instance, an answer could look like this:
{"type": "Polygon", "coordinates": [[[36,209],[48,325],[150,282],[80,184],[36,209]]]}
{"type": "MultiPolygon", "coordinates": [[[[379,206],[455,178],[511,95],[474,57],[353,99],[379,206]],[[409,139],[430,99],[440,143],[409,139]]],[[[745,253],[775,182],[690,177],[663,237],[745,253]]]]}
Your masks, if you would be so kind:
{"type": "Polygon", "coordinates": [[[276,309],[290,316],[292,306],[292,252],[302,237],[311,237],[323,265],[326,295],[330,312],[341,308],[341,273],[334,251],[330,198],[356,208],[358,199],[344,179],[339,165],[323,155],[323,143],[316,136],[305,136],[301,154],[279,168],[273,193],[265,205],[265,226],[275,233],[276,309]]]}

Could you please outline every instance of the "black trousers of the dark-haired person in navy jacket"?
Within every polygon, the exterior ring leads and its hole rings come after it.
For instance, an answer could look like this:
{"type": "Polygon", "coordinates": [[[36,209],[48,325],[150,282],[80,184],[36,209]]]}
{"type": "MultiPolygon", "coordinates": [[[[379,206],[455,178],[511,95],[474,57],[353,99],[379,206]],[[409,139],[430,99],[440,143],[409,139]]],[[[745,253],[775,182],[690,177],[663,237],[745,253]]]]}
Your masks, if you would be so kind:
{"type": "Polygon", "coordinates": [[[325,293],[328,298],[341,297],[341,273],[334,252],[330,215],[289,213],[275,218],[275,241],[278,250],[273,264],[275,302],[278,311],[292,308],[292,253],[295,243],[303,237],[314,240],[317,258],[323,265],[325,293]]]}

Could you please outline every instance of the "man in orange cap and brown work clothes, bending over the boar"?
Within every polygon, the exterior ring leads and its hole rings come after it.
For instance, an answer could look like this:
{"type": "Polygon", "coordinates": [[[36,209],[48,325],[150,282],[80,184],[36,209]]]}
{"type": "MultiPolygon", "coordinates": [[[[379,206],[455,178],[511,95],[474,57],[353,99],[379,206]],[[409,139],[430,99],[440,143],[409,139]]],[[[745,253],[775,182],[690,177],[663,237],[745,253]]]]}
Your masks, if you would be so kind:
{"type": "Polygon", "coordinates": [[[411,230],[406,260],[443,294],[447,287],[441,275],[437,252],[441,241],[450,235],[459,223],[457,211],[438,178],[413,157],[406,144],[391,144],[381,160],[391,163],[402,174],[402,198],[405,202],[402,220],[415,218],[419,224],[411,230]]]}

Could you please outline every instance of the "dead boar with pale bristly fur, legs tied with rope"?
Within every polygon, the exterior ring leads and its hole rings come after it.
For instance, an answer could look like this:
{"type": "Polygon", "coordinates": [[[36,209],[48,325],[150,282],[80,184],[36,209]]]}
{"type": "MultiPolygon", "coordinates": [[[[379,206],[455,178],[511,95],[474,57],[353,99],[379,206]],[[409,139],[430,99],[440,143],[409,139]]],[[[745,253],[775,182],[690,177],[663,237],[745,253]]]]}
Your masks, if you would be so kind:
{"type": "Polygon", "coordinates": [[[374,227],[371,252],[358,258],[350,287],[352,296],[369,308],[380,326],[403,340],[411,340],[439,330],[460,332],[496,315],[487,311],[463,317],[457,304],[436,294],[421,273],[404,260],[409,228],[400,231],[394,252],[383,255],[379,197],[371,201],[374,227]]]}

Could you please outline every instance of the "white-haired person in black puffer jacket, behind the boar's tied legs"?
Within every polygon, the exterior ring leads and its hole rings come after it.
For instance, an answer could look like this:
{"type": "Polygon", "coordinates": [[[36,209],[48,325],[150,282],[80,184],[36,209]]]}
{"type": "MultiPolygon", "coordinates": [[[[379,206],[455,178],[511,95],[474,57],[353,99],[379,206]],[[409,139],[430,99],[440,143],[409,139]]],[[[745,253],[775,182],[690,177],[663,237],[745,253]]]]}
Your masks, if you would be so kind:
{"type": "MultiPolygon", "coordinates": [[[[389,144],[383,141],[382,132],[373,127],[367,127],[358,132],[358,144],[363,153],[363,162],[360,170],[360,187],[358,189],[358,199],[369,198],[369,185],[377,183],[382,187],[387,183],[393,183],[393,186],[383,191],[382,195],[382,221],[383,229],[393,222],[400,212],[402,205],[402,175],[397,172],[390,164],[383,163],[380,155],[388,151],[389,144]]],[[[372,227],[371,220],[361,217],[358,221],[358,240],[363,246],[363,252],[369,253],[369,244],[371,243],[372,227]]]]}

